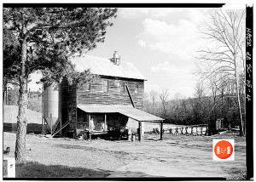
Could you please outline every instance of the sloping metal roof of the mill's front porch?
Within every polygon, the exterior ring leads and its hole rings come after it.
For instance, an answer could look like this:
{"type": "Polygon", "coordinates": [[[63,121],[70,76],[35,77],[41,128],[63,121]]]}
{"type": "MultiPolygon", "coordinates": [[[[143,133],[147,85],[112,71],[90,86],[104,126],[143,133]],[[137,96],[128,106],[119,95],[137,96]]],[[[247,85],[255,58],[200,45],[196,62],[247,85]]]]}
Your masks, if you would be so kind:
{"type": "Polygon", "coordinates": [[[131,117],[139,122],[163,121],[163,118],[155,117],[148,112],[138,110],[134,107],[120,105],[78,105],[78,108],[88,113],[120,113],[131,117]]]}

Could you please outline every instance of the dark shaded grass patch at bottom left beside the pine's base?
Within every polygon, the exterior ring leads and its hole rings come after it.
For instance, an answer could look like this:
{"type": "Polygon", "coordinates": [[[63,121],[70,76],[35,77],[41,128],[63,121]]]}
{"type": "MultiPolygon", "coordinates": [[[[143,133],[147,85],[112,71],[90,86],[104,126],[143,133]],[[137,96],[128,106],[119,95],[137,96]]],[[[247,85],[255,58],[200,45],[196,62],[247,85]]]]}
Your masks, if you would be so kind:
{"type": "Polygon", "coordinates": [[[108,175],[106,171],[61,165],[48,166],[38,162],[16,164],[16,178],[106,178],[108,175]]]}

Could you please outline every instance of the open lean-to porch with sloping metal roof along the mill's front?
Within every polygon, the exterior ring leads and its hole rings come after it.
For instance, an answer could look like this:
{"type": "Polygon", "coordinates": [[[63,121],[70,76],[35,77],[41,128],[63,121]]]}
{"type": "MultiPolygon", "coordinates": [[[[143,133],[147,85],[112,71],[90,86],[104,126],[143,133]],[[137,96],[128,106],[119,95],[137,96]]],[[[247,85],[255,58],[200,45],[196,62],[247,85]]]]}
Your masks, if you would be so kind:
{"type": "Polygon", "coordinates": [[[144,122],[160,122],[160,139],[164,119],[155,117],[145,111],[124,105],[78,105],[77,129],[83,129],[89,134],[89,139],[96,134],[128,132],[128,136],[137,133],[138,140],[143,139],[144,122]],[[131,122],[137,122],[137,128],[131,127],[131,122]]]}

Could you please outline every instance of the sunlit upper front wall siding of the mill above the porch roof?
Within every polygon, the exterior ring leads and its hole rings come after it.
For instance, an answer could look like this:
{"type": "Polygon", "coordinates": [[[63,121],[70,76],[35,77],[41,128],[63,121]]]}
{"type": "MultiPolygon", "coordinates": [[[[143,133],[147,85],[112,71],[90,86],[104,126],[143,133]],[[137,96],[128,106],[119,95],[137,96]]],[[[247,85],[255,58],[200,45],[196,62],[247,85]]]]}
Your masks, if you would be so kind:
{"type": "Polygon", "coordinates": [[[131,105],[127,90],[124,92],[125,83],[128,85],[131,97],[138,109],[143,108],[144,82],[125,78],[100,77],[90,83],[90,91],[78,88],[78,105],[131,105]],[[108,80],[108,92],[103,92],[103,80],[108,80]],[[138,85],[137,94],[135,89],[138,85]]]}

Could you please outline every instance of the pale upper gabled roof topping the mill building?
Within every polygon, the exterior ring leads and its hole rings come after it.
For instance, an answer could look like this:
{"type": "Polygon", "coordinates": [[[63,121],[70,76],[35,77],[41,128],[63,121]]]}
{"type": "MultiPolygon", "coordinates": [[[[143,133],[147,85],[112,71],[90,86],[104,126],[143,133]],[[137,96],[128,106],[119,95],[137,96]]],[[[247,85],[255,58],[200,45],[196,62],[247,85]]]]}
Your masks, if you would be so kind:
{"type": "Polygon", "coordinates": [[[121,60],[120,65],[114,65],[107,58],[87,54],[75,56],[71,58],[71,61],[75,65],[75,69],[80,72],[90,69],[90,72],[96,75],[146,80],[131,62],[121,60]]]}

